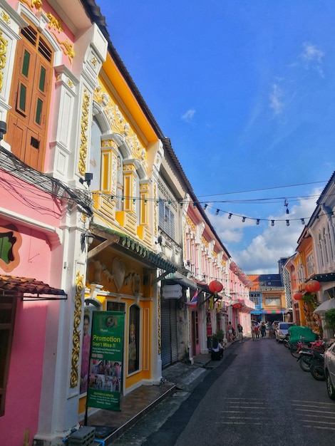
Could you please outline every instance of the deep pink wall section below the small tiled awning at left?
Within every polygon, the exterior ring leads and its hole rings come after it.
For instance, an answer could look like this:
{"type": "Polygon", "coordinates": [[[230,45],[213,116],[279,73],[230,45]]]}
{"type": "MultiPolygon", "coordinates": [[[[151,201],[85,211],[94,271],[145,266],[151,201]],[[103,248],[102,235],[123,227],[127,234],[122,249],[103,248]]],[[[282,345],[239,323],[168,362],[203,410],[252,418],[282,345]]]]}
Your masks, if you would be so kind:
{"type": "Polygon", "coordinates": [[[46,302],[18,302],[0,445],[23,445],[27,428],[31,445],[37,432],[46,311],[46,302]]]}

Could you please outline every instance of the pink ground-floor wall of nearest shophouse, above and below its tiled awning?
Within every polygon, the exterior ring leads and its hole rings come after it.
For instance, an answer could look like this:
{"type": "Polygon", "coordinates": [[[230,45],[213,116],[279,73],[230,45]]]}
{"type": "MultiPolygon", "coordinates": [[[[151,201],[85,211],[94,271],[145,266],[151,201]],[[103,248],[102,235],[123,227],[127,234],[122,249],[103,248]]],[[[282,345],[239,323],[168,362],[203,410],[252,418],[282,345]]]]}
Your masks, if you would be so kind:
{"type": "MultiPolygon", "coordinates": [[[[0,226],[14,225],[21,237],[19,264],[9,272],[0,264],[0,274],[29,277],[59,288],[61,265],[58,271],[51,268],[53,256],[57,258],[59,255],[59,250],[54,249],[54,239],[58,236],[55,231],[43,229],[44,224],[52,228],[59,226],[61,221],[59,200],[2,171],[0,179],[0,207],[6,209],[6,214],[13,214],[13,217],[0,217],[0,226]],[[26,216],[26,222],[24,218],[20,221],[21,217],[17,216],[26,216]],[[42,228],[34,227],[29,219],[41,224],[42,228]]],[[[58,245],[60,243],[58,240],[58,245]]],[[[56,302],[14,299],[18,301],[5,415],[0,417],[0,445],[23,445],[26,429],[29,429],[29,444],[31,444],[37,432],[46,316],[48,305],[57,305],[56,302]]]]}

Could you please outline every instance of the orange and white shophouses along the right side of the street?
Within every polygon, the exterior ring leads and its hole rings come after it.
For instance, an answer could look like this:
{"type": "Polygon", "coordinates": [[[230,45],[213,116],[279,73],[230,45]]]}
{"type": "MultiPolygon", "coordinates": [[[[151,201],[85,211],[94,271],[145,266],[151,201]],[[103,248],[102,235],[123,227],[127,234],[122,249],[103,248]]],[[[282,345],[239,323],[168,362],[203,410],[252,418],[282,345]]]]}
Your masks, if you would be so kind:
{"type": "Polygon", "coordinates": [[[335,299],[334,193],[335,172],[321,192],[311,218],[304,224],[295,254],[285,264],[293,296],[294,322],[325,338],[333,338],[334,333],[324,328],[324,311],[317,308],[335,299]]]}

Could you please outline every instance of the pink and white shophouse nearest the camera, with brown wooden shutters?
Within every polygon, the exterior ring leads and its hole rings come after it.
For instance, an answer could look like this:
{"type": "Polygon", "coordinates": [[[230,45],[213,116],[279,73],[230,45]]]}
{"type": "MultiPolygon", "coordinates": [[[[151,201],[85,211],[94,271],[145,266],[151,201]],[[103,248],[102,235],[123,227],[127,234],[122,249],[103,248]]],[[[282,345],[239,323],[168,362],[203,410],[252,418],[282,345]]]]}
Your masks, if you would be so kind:
{"type": "Polygon", "coordinates": [[[78,0],[1,0],[0,41],[0,444],[51,444],[78,424],[79,180],[107,43],[78,0]]]}

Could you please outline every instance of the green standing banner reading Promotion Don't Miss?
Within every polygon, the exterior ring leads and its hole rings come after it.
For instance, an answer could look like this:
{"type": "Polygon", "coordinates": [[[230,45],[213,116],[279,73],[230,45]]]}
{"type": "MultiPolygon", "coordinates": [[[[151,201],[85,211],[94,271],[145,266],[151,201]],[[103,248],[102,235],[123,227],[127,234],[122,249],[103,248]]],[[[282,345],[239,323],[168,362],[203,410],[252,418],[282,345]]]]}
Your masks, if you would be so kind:
{"type": "Polygon", "coordinates": [[[93,311],[87,407],[120,410],[123,311],[93,311]]]}

